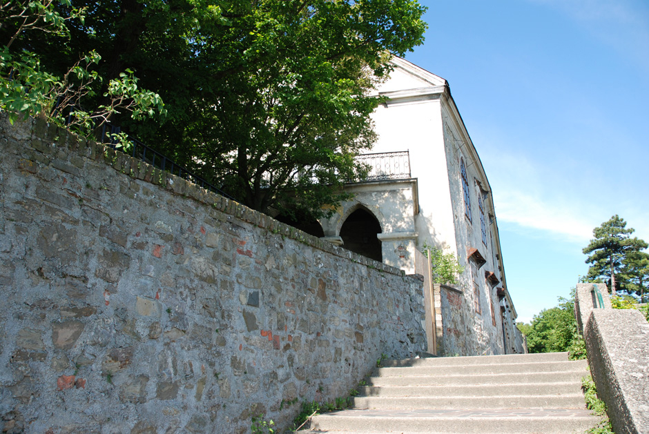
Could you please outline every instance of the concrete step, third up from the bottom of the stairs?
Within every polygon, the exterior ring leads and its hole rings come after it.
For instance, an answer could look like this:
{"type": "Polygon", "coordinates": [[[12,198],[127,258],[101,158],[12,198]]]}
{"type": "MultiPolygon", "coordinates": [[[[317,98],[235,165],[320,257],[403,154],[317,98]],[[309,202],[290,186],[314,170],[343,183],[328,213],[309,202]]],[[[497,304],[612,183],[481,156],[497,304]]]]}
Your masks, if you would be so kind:
{"type": "Polygon", "coordinates": [[[452,386],[367,386],[359,387],[360,396],[477,396],[507,395],[575,395],[581,394],[577,382],[512,383],[512,384],[454,384],[452,386]]]}

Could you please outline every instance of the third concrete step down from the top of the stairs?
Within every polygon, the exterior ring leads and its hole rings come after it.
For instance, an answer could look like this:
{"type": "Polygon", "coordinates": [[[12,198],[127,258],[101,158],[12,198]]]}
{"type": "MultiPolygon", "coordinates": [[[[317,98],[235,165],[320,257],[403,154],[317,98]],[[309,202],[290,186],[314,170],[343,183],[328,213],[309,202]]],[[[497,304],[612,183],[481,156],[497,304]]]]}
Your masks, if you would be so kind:
{"type": "Polygon", "coordinates": [[[505,373],[490,375],[400,375],[385,377],[367,377],[368,386],[469,386],[487,384],[518,384],[518,383],[553,383],[577,382],[588,375],[585,368],[577,371],[547,372],[547,373],[505,373]]]}

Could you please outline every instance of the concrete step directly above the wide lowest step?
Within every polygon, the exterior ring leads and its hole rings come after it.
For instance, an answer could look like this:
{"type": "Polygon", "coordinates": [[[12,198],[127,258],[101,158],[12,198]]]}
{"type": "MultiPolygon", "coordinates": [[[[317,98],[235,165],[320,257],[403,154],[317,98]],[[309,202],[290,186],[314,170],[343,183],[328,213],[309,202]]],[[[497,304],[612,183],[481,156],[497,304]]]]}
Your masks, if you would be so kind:
{"type": "Polygon", "coordinates": [[[476,396],[407,396],[407,397],[354,397],[353,408],[378,409],[453,409],[463,410],[485,408],[579,408],[585,409],[583,395],[505,395],[498,397],[476,396]]]}

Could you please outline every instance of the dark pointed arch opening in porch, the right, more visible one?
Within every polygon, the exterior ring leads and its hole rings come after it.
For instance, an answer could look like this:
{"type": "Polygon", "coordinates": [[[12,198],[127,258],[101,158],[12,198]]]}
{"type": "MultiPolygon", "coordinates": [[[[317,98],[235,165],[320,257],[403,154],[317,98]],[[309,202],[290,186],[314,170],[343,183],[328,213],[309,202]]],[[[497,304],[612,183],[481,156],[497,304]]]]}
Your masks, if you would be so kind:
{"type": "Polygon", "coordinates": [[[376,237],[378,233],[381,233],[381,225],[376,217],[366,210],[356,210],[351,213],[340,228],[343,247],[382,262],[381,241],[376,237]]]}

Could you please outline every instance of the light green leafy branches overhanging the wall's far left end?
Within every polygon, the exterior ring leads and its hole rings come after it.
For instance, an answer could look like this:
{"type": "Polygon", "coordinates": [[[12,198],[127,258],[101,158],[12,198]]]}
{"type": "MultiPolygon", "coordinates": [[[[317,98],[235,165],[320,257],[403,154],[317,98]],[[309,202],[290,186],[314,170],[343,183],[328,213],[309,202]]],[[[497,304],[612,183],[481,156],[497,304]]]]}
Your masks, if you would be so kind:
{"type": "Polygon", "coordinates": [[[84,11],[71,8],[68,0],[10,1],[0,6],[4,21],[0,37],[9,37],[0,51],[0,110],[8,112],[11,123],[18,118],[42,115],[88,136],[119,110],[130,112],[133,119],[164,112],[159,95],[138,88],[137,78],[128,69],[108,82],[104,103],[85,110],[84,103],[97,97],[102,88],[103,79],[94,69],[101,56],[89,50],[62,76],[57,76],[43,69],[39,55],[25,49],[29,42],[22,41],[23,36],[32,30],[50,34],[60,44],[61,37],[69,34],[67,24],[73,19],[83,22],[84,11]],[[59,13],[55,9],[57,3],[67,7],[67,12],[59,13]],[[14,42],[23,48],[12,50],[14,42]],[[70,112],[73,115],[66,119],[70,112]]]}

